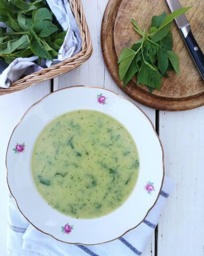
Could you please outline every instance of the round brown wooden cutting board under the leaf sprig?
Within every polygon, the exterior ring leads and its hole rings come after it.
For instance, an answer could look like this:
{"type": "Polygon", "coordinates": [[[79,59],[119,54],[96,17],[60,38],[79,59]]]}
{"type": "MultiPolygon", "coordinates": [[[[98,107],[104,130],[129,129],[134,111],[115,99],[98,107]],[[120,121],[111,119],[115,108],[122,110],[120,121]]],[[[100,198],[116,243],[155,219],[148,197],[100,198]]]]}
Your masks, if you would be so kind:
{"type": "MultiPolygon", "coordinates": [[[[204,1],[182,0],[182,6],[192,6],[188,12],[192,31],[204,50],[202,34],[204,31],[204,1]]],[[[103,15],[101,44],[103,57],[113,79],[117,85],[134,100],[145,106],[158,110],[180,111],[189,110],[204,105],[204,83],[199,75],[192,58],[190,57],[184,41],[176,25],[173,25],[174,51],[180,57],[181,77],[169,73],[170,78],[163,79],[161,92],[154,90],[149,93],[146,86],[136,86],[135,80],[123,87],[119,79],[117,59],[123,48],[130,46],[138,40],[130,23],[130,18],[138,21],[141,27],[149,26],[151,17],[159,15],[164,10],[169,13],[166,1],[155,0],[109,0],[103,15]],[[146,17],[149,17],[147,19],[146,17]],[[130,36],[131,35],[131,36],[130,36]]]]}

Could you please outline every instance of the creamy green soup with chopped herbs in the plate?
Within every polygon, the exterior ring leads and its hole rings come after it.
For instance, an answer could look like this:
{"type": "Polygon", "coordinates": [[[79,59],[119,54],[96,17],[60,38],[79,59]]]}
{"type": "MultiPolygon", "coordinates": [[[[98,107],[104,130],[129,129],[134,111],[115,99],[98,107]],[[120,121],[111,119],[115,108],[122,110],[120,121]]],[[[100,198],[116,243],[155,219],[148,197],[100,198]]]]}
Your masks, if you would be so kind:
{"type": "Polygon", "coordinates": [[[138,177],[138,152],[126,128],[98,111],[81,110],[49,123],[35,143],[38,191],[56,210],[96,218],[126,201],[138,177]]]}

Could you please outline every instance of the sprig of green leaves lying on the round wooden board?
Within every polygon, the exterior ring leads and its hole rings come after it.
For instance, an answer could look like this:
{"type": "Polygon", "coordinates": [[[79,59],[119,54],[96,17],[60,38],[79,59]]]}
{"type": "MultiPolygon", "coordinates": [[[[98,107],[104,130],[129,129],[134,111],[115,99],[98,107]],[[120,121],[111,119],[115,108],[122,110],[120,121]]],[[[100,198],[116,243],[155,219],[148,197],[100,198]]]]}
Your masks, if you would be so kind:
{"type": "Polygon", "coordinates": [[[137,73],[137,84],[160,90],[162,78],[168,77],[167,71],[174,71],[180,75],[179,58],[172,51],[173,38],[170,31],[173,19],[187,12],[189,7],[181,8],[166,16],[163,12],[152,17],[149,33],[142,31],[136,20],[131,19],[134,30],[141,35],[141,40],[131,48],[125,48],[119,57],[119,76],[123,85],[137,73]]]}

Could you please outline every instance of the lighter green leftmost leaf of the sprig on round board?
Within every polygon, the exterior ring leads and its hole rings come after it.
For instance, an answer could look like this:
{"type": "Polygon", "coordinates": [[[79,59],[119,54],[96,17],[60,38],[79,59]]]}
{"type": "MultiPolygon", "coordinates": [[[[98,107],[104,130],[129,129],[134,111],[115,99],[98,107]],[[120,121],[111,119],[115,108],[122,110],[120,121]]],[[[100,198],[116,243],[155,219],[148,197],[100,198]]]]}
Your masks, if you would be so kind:
{"type": "Polygon", "coordinates": [[[136,55],[136,52],[131,50],[131,48],[125,48],[119,57],[119,76],[120,80],[123,80],[124,76],[126,75],[128,68],[131,65],[131,62],[133,62],[133,59],[136,55]]]}

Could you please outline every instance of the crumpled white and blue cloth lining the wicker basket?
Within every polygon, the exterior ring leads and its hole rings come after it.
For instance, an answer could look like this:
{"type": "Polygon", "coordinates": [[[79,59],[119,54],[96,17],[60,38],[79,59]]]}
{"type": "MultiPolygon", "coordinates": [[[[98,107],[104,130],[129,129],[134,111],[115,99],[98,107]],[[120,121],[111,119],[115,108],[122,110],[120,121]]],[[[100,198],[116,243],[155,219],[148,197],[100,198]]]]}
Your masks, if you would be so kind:
{"type": "MultiPolygon", "coordinates": [[[[67,0],[46,0],[63,30],[67,30],[65,41],[59,49],[57,59],[46,60],[45,65],[51,66],[73,57],[81,51],[81,37],[76,20],[71,12],[69,1],[67,0]]],[[[3,26],[3,24],[0,24],[3,26]]],[[[17,58],[8,67],[5,62],[0,61],[0,87],[8,88],[12,82],[18,80],[22,75],[41,70],[41,66],[34,63],[38,57],[17,58]],[[6,67],[6,68],[5,68],[6,67]],[[3,69],[3,71],[2,71],[3,69]]]]}

